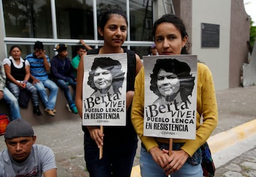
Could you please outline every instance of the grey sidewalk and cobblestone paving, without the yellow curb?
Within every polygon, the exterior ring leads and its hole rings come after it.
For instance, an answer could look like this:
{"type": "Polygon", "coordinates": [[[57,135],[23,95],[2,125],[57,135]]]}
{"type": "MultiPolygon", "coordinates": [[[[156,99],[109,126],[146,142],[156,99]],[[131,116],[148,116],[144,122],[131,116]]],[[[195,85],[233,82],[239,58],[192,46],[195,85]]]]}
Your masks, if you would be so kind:
{"type": "MultiPolygon", "coordinates": [[[[213,132],[213,136],[256,118],[256,86],[217,91],[216,97],[219,124],[213,132]]],[[[65,119],[51,124],[36,125],[34,130],[37,135],[36,142],[45,144],[54,150],[58,165],[58,176],[89,176],[83,160],[83,133],[81,120],[78,116],[70,120],[65,119]]],[[[4,147],[4,138],[1,136],[0,150],[4,147]]],[[[234,162],[230,161],[218,167],[215,176],[256,176],[255,148],[249,149],[246,154],[234,158],[234,162]]],[[[134,160],[134,165],[138,164],[139,148],[134,160]]]]}

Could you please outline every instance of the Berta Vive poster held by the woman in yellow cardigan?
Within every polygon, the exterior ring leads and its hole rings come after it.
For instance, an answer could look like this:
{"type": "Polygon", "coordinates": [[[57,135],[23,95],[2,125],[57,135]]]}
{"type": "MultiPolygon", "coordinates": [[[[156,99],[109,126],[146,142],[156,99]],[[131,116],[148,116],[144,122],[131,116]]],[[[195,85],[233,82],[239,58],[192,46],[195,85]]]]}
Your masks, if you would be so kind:
{"type": "Polygon", "coordinates": [[[143,56],[144,135],[195,139],[197,56],[143,56]]]}

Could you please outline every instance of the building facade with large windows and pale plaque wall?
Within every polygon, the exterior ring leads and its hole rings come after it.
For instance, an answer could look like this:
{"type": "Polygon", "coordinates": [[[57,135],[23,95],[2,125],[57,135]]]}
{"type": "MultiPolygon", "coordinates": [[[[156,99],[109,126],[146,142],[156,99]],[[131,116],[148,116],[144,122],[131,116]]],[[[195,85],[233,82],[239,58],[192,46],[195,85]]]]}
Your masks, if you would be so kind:
{"type": "MultiPolygon", "coordinates": [[[[129,29],[124,47],[140,57],[147,56],[153,42],[153,22],[172,12],[168,0],[2,0],[0,1],[0,59],[12,45],[22,47],[23,57],[33,52],[39,40],[49,57],[58,43],[75,55],[79,39],[92,47],[103,44],[98,35],[98,16],[106,9],[121,7],[127,14],[129,29]]],[[[216,89],[240,85],[242,64],[247,61],[250,18],[242,0],[173,0],[175,14],[184,20],[191,54],[208,65],[216,89]],[[214,31],[214,33],[210,33],[214,31]],[[211,44],[214,41],[214,44],[211,44]]]]}

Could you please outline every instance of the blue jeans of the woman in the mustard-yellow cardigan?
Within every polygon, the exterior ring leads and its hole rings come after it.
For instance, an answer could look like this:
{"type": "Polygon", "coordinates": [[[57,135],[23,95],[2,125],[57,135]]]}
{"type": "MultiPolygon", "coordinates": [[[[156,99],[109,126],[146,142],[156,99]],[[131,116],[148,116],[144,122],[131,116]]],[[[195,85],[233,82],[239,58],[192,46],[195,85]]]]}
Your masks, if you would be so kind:
{"type": "MultiPolygon", "coordinates": [[[[153,160],[150,153],[142,147],[140,149],[140,173],[142,177],[166,177],[163,168],[153,160]]],[[[176,171],[171,177],[202,177],[203,170],[201,164],[192,165],[190,163],[184,163],[179,171],[176,171]]]]}

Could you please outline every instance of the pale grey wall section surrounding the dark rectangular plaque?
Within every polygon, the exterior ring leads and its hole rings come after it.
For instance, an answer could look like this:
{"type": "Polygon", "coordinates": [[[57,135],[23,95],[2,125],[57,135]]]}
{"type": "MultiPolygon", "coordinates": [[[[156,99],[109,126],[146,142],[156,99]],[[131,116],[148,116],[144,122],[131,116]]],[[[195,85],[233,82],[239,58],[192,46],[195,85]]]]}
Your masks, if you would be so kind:
{"type": "Polygon", "coordinates": [[[192,1],[192,54],[213,74],[215,89],[229,88],[229,39],[231,0],[192,1]],[[220,47],[201,48],[201,23],[220,25],[220,47]]]}

